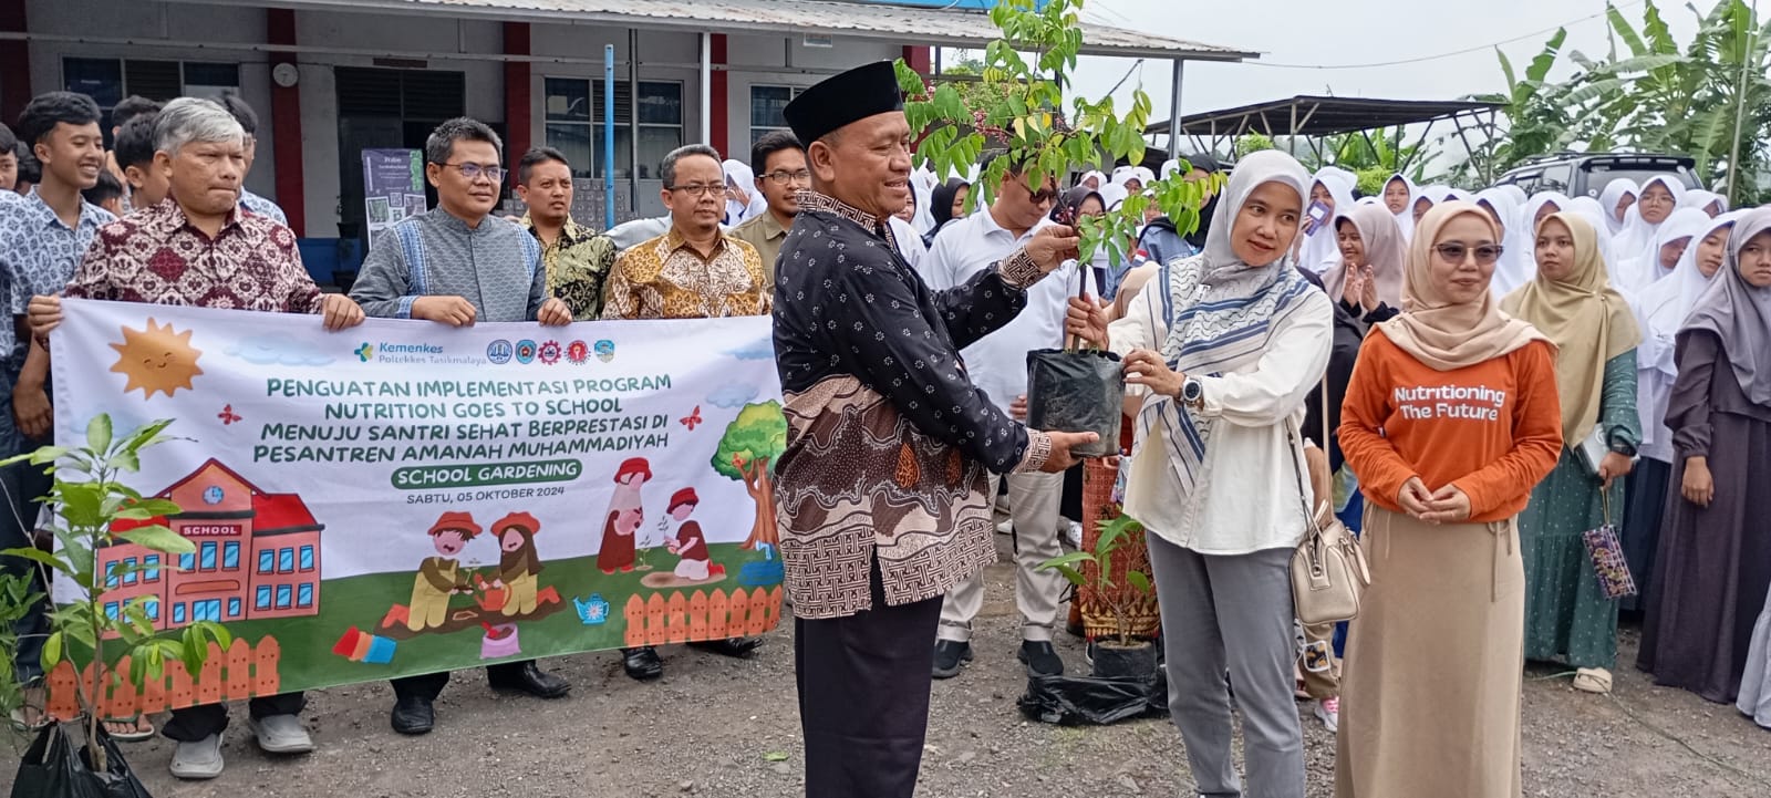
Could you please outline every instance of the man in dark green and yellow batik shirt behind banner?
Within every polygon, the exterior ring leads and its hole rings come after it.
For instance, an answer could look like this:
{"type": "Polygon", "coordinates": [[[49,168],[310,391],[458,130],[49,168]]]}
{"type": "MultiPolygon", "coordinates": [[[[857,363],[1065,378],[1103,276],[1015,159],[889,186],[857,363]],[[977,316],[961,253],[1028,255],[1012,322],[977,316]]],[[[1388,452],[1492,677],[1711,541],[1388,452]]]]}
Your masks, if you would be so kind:
{"type": "Polygon", "coordinates": [[[602,317],[602,281],[615,267],[615,241],[572,221],[572,166],[553,147],[537,147],[517,163],[517,198],[526,226],[542,242],[547,294],[572,308],[572,320],[602,317]]]}

